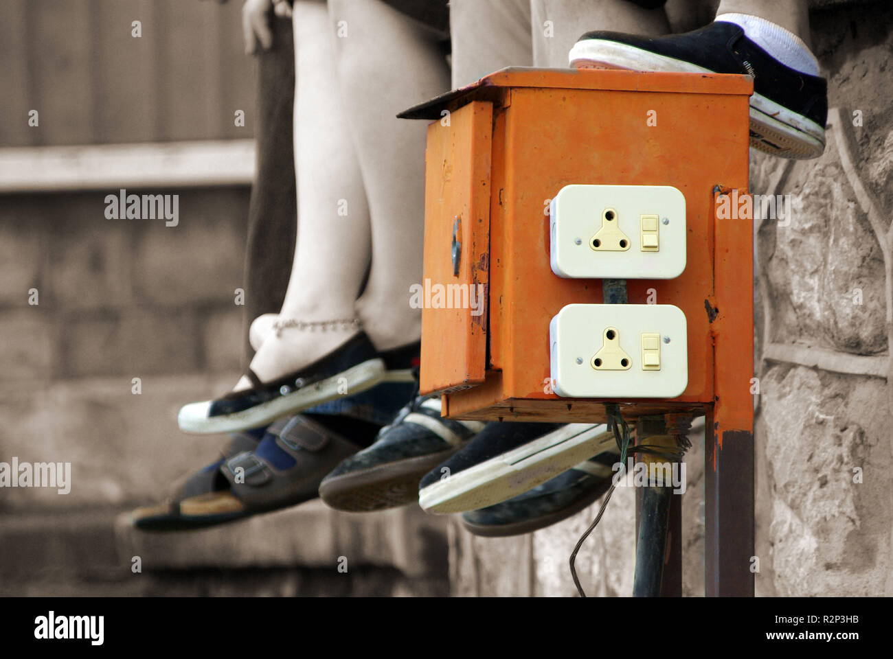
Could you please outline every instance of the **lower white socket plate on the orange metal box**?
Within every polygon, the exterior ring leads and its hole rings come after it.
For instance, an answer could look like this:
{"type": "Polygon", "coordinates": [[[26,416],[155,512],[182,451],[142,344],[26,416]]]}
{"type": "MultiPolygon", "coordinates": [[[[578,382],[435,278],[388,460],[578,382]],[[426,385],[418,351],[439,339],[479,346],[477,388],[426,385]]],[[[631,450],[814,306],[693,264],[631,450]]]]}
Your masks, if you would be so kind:
{"type": "Polygon", "coordinates": [[[568,304],[549,324],[552,389],[570,398],[675,398],[689,384],[685,313],[672,304],[568,304]],[[615,328],[626,371],[592,365],[615,328]],[[642,333],[660,334],[660,370],[642,369],[642,333]],[[669,339],[669,342],[667,342],[669,339]]]}

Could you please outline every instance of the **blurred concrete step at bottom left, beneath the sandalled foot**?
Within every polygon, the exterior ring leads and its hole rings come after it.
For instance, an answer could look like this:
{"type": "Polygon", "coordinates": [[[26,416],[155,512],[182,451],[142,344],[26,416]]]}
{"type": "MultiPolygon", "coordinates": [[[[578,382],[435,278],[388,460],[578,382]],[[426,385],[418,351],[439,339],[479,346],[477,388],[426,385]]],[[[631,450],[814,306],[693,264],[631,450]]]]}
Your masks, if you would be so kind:
{"type": "Polygon", "coordinates": [[[159,534],[119,507],[6,512],[0,546],[15,550],[0,552],[0,595],[447,595],[446,522],[418,506],[349,514],[319,500],[159,534]]]}

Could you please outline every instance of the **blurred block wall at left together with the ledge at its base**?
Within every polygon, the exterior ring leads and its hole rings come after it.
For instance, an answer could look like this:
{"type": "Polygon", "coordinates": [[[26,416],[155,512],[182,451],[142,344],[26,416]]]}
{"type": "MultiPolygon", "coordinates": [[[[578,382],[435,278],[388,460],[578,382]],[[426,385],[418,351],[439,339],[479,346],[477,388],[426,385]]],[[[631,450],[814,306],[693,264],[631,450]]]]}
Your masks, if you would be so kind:
{"type": "Polygon", "coordinates": [[[69,494],[0,490],[0,594],[447,594],[446,521],[417,508],[129,528],[216,457],[177,411],[227,391],[243,345],[248,188],[152,192],[179,195],[178,226],[107,220],[104,191],[0,196],[0,461],[71,463],[69,494]]]}

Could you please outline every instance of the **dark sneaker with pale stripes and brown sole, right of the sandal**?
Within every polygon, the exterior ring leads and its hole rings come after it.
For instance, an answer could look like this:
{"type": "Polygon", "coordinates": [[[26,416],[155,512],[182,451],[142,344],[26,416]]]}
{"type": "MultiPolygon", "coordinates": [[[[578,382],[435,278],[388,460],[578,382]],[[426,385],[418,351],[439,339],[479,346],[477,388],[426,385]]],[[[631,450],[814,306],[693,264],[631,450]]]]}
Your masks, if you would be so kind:
{"type": "Polygon", "coordinates": [[[330,507],[364,513],[411,504],[419,480],[484,428],[480,421],[440,418],[440,399],[419,396],[382,428],[369,448],[348,457],[320,485],[330,507]]]}

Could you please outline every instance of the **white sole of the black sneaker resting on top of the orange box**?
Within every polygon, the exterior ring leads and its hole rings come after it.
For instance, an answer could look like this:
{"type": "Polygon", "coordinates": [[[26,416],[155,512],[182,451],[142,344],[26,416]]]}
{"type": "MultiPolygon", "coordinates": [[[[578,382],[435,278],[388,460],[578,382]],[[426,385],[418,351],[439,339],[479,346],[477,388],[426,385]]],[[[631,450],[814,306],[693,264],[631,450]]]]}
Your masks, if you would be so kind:
{"type": "MultiPolygon", "coordinates": [[[[578,41],[569,55],[577,69],[712,73],[709,69],[644,48],[605,39],[578,41]]],[[[817,158],[825,149],[825,129],[761,94],[750,97],[750,146],[783,158],[817,158]]]]}

